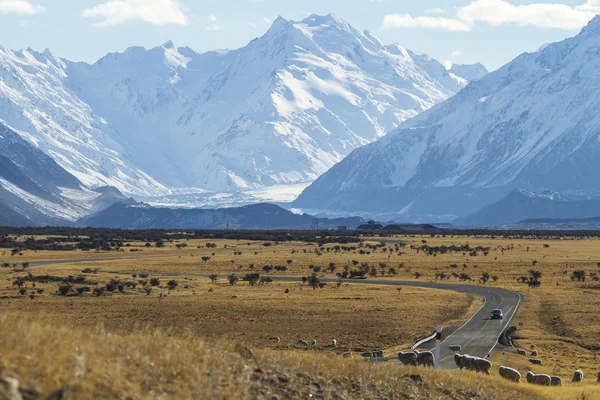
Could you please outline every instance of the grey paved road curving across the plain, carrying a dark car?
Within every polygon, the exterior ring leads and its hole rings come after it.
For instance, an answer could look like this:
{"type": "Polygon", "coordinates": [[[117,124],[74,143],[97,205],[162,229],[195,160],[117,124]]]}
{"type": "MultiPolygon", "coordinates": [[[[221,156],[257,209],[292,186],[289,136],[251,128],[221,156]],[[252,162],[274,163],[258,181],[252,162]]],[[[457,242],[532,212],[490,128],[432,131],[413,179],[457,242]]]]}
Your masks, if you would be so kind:
{"type": "MultiPolygon", "coordinates": [[[[32,262],[31,266],[41,266],[48,264],[65,264],[65,263],[86,263],[94,261],[112,261],[132,258],[145,257],[113,257],[103,259],[87,259],[87,260],[52,260],[32,262]]],[[[148,257],[149,258],[149,257],[148,257]]],[[[126,271],[114,271],[119,273],[127,273],[126,271]]],[[[139,272],[139,271],[138,271],[139,272]]],[[[206,274],[180,274],[180,273],[163,273],[165,276],[202,276],[206,274]]],[[[299,277],[295,276],[271,276],[273,280],[283,282],[298,282],[299,277]]],[[[323,278],[324,282],[334,283],[337,279],[323,278]]],[[[441,368],[452,369],[456,368],[454,364],[454,354],[448,349],[450,345],[460,345],[463,352],[477,357],[487,356],[492,349],[498,344],[500,334],[506,329],[521,303],[521,295],[507,289],[475,286],[467,284],[453,283],[437,283],[437,282],[418,282],[418,281],[396,281],[385,279],[365,279],[365,280],[344,280],[344,283],[352,284],[368,284],[368,285],[390,285],[390,286],[413,286],[430,289],[452,290],[456,292],[469,293],[480,296],[484,299],[481,308],[471,318],[464,323],[460,328],[444,335],[442,333],[442,348],[441,348],[441,368]],[[500,308],[504,312],[503,320],[491,320],[490,313],[493,309],[500,308]]],[[[393,316],[392,316],[393,317],[393,316]]],[[[425,343],[422,348],[432,350],[433,343],[425,343]]]]}

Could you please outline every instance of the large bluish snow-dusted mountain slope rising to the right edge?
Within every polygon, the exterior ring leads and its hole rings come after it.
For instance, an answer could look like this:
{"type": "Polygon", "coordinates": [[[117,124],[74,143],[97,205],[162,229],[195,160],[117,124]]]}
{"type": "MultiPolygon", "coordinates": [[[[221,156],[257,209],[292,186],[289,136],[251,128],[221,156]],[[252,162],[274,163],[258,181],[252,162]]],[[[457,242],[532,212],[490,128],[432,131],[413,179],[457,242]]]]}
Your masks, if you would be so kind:
{"type": "Polygon", "coordinates": [[[600,17],[356,150],[295,206],[451,219],[516,188],[597,196],[600,17]]]}

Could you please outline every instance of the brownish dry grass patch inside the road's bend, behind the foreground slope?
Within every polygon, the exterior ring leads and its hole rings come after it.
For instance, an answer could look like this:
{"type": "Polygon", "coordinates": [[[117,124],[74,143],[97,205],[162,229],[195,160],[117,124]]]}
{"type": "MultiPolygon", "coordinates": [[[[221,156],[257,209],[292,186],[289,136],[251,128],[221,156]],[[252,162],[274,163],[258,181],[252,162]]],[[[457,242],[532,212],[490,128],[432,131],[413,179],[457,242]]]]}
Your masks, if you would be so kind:
{"type": "MultiPolygon", "coordinates": [[[[92,279],[105,282],[109,277],[114,278],[100,274],[92,279]]],[[[245,282],[229,286],[223,279],[213,285],[202,278],[179,280],[179,287],[169,291],[167,279],[161,282],[151,295],[137,288],[65,298],[54,294],[57,284],[37,284],[45,294],[33,300],[16,295],[13,288],[0,294],[12,296],[3,301],[6,312],[59,319],[74,327],[104,326],[126,334],[168,327],[172,334],[189,331],[209,340],[276,349],[294,348],[298,339],[316,339],[314,350],[326,350],[323,345],[334,338],[347,350],[406,346],[415,332],[420,336],[439,323],[465,319],[473,300],[466,294],[419,288],[344,284],[313,290],[300,282],[250,287],[245,282]]]]}

